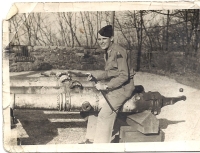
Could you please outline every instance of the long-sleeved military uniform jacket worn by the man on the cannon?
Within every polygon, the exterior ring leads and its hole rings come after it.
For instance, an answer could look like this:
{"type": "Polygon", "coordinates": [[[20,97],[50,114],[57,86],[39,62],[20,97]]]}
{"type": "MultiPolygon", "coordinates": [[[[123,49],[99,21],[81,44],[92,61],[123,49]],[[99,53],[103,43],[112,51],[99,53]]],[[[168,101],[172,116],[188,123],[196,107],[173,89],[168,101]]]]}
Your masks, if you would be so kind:
{"type": "MultiPolygon", "coordinates": [[[[123,88],[122,92],[132,92],[134,89],[134,71],[130,65],[130,56],[127,50],[117,44],[112,44],[107,55],[104,54],[105,71],[98,76],[97,80],[110,79],[107,86],[111,90],[123,88]]],[[[129,94],[129,93],[126,93],[129,94]]],[[[128,96],[128,95],[127,95],[128,96]]]]}

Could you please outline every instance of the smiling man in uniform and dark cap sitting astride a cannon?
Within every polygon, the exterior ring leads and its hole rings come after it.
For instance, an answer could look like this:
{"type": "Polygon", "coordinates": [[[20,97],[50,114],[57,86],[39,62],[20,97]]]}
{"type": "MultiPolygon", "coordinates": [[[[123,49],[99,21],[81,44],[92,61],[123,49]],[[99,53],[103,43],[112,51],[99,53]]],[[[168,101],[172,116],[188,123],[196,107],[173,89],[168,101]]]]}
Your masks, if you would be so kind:
{"type": "MultiPolygon", "coordinates": [[[[97,81],[108,80],[107,84],[96,83],[97,90],[106,91],[105,103],[98,117],[90,115],[87,125],[85,143],[110,143],[113,125],[118,109],[130,98],[134,91],[134,71],[130,65],[130,56],[127,50],[113,43],[113,29],[107,25],[98,32],[98,43],[105,50],[105,71],[94,76],[97,81]],[[90,140],[90,141],[89,141],[90,140]]],[[[88,80],[92,80],[92,74],[88,80]]]]}

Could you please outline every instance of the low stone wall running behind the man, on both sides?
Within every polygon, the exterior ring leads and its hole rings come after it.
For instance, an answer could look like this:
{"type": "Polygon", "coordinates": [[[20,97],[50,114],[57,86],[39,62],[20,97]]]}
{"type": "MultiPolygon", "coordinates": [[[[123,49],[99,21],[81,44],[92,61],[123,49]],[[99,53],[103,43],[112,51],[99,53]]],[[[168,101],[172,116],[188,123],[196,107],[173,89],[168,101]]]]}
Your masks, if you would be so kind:
{"type": "MultiPolygon", "coordinates": [[[[42,71],[51,69],[60,70],[103,70],[104,51],[99,48],[85,49],[84,47],[65,46],[14,46],[9,48],[10,72],[42,71]],[[26,49],[28,52],[26,51],[26,49]],[[24,57],[28,55],[30,57],[24,57]],[[22,62],[28,59],[30,62],[22,62]],[[32,62],[31,62],[32,61],[32,62]]],[[[149,56],[142,52],[140,58],[140,70],[162,73],[200,73],[200,58],[185,58],[178,52],[153,52],[151,63],[149,56]]],[[[136,70],[137,50],[131,51],[131,63],[136,70]]]]}

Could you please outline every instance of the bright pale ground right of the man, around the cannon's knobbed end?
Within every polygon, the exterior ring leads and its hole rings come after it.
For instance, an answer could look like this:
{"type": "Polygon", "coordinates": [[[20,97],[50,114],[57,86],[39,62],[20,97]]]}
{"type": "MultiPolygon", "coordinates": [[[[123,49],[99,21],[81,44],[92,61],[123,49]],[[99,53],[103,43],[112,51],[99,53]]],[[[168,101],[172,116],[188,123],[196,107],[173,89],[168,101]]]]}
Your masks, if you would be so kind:
{"type": "MultiPolygon", "coordinates": [[[[185,95],[186,101],[163,107],[157,116],[165,141],[200,141],[200,90],[194,89],[173,79],[148,73],[138,73],[136,84],[142,84],[146,91],[159,91],[162,95],[173,97],[185,95]],[[183,92],[179,89],[183,88],[183,92]]],[[[197,82],[200,83],[200,82],[197,82]]]]}

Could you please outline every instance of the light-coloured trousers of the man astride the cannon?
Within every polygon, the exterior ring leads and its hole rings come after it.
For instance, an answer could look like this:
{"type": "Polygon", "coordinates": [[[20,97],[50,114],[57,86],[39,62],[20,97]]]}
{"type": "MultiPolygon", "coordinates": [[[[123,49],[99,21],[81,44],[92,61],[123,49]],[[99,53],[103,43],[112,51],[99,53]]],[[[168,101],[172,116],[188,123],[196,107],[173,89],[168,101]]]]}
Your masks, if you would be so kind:
{"type": "Polygon", "coordinates": [[[121,90],[115,90],[106,94],[106,97],[115,112],[112,111],[108,103],[102,105],[101,110],[96,115],[91,114],[88,118],[86,139],[93,140],[94,143],[110,143],[113,126],[117,116],[117,111],[128,99],[121,90]]]}

